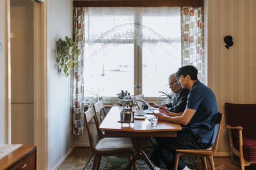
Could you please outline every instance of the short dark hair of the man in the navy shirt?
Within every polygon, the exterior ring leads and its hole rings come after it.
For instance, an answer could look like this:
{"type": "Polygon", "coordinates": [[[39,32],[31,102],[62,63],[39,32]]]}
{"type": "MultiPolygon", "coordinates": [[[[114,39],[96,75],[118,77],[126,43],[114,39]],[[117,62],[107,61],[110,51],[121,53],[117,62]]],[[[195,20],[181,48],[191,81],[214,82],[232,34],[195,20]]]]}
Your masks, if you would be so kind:
{"type": "Polygon", "coordinates": [[[197,69],[194,66],[183,66],[178,69],[176,72],[177,78],[180,76],[186,77],[187,75],[190,76],[191,80],[197,80],[197,69]]]}

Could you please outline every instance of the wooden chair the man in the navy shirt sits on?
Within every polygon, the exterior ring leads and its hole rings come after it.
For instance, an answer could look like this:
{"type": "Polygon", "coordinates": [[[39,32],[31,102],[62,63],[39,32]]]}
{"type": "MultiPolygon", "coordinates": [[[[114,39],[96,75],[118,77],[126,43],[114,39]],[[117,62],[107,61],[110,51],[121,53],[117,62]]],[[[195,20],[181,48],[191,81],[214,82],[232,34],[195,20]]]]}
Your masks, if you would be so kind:
{"type": "Polygon", "coordinates": [[[213,161],[213,156],[217,151],[217,147],[218,147],[218,141],[220,138],[220,129],[221,129],[221,124],[223,121],[223,114],[222,113],[218,113],[218,124],[219,124],[219,129],[218,129],[218,133],[215,139],[214,144],[212,145],[211,148],[205,149],[205,150],[176,150],[175,153],[175,163],[174,163],[174,169],[177,170],[178,167],[178,162],[179,162],[179,157],[181,155],[192,155],[192,156],[198,156],[201,157],[201,161],[203,164],[204,169],[207,170],[207,162],[206,162],[206,158],[209,159],[209,161],[211,162],[211,169],[214,170],[215,166],[214,166],[214,161],[213,161]]]}

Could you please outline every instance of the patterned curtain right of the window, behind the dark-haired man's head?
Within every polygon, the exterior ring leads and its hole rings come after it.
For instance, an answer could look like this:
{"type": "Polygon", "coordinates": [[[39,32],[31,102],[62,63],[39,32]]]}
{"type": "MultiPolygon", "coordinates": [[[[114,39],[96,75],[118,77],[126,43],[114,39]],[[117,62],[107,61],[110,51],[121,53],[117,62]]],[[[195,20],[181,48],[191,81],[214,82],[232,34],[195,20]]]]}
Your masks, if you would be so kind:
{"type": "Polygon", "coordinates": [[[198,69],[198,80],[206,82],[204,59],[204,8],[180,8],[182,66],[198,69]]]}

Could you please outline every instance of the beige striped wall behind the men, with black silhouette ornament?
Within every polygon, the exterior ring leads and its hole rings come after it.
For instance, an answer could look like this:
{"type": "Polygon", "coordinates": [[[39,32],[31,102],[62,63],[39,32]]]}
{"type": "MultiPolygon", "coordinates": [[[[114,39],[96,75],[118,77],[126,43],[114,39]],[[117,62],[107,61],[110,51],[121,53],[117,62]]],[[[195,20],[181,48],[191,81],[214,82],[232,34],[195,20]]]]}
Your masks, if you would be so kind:
{"type": "MultiPolygon", "coordinates": [[[[256,103],[256,1],[208,0],[208,86],[225,103],[256,103]],[[223,38],[233,37],[228,50],[223,38]]],[[[224,121],[225,122],[225,121],[224,121]]],[[[226,123],[218,152],[229,152],[226,123]]]]}

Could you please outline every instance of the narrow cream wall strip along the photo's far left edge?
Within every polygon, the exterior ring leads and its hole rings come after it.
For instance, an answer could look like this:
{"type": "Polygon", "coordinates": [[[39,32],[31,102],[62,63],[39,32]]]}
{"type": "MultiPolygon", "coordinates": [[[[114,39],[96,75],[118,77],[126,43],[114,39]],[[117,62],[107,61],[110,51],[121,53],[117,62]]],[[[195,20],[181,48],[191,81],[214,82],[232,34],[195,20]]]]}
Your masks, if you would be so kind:
{"type": "Polygon", "coordinates": [[[0,1],[0,43],[3,47],[0,51],[0,143],[6,143],[6,106],[5,106],[5,96],[6,96],[6,52],[5,52],[5,18],[6,18],[6,2],[0,1]]]}

